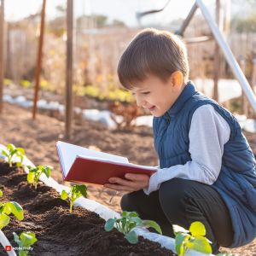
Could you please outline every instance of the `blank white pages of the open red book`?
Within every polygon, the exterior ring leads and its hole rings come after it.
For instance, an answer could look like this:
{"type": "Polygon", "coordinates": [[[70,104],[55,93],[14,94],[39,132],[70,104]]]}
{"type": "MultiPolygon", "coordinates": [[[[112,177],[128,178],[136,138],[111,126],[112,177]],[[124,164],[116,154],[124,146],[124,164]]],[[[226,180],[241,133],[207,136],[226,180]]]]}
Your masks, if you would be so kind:
{"type": "Polygon", "coordinates": [[[104,152],[98,152],[96,150],[80,147],[77,145],[73,145],[71,143],[63,143],[59,141],[56,143],[56,146],[60,155],[61,167],[65,177],[67,176],[67,172],[73,165],[73,162],[78,155],[83,156],[85,158],[92,157],[98,160],[112,160],[119,163],[129,163],[129,160],[126,157],[115,154],[108,154],[104,152]]]}

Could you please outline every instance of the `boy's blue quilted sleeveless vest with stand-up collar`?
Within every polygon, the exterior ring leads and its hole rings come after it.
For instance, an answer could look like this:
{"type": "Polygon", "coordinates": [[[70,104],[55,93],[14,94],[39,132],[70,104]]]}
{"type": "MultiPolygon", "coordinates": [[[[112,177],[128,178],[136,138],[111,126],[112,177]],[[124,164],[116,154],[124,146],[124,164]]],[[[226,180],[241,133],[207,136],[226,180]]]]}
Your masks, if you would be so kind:
{"type": "Polygon", "coordinates": [[[230,140],[224,144],[221,171],[212,187],[230,211],[234,229],[230,247],[240,247],[256,236],[256,161],[236,118],[217,102],[197,92],[189,82],[172,108],[161,117],[154,117],[154,148],[159,155],[160,168],[184,165],[191,160],[189,127],[196,108],[205,104],[211,104],[230,125],[230,140]]]}

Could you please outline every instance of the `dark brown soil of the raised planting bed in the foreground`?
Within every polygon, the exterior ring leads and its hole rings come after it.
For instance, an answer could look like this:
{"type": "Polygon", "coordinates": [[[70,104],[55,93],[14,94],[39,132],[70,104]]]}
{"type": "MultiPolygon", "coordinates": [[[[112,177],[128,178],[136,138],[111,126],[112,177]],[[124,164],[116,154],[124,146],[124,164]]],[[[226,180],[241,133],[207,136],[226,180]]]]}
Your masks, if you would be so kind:
{"type": "MultiPolygon", "coordinates": [[[[38,241],[32,245],[30,255],[176,255],[159,243],[148,241],[142,236],[136,245],[131,245],[117,230],[106,232],[104,219],[95,212],[82,207],[69,212],[67,201],[63,201],[55,189],[44,183],[35,190],[26,182],[26,173],[20,168],[9,168],[0,161],[1,201],[17,201],[24,209],[24,220],[11,218],[3,228],[13,247],[13,232],[32,231],[38,241]]],[[[0,255],[7,255],[0,249],[0,255]]]]}

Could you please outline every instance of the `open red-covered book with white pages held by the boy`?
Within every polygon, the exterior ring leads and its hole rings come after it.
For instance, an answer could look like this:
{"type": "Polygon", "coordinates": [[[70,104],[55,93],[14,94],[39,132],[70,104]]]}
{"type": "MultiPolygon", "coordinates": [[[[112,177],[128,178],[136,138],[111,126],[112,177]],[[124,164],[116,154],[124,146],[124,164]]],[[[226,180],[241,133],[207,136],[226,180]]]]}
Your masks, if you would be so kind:
{"type": "Polygon", "coordinates": [[[57,142],[56,148],[65,181],[76,183],[108,183],[110,177],[125,178],[125,173],[151,175],[156,167],[129,163],[122,156],[107,154],[79,147],[70,143],[57,142]]]}

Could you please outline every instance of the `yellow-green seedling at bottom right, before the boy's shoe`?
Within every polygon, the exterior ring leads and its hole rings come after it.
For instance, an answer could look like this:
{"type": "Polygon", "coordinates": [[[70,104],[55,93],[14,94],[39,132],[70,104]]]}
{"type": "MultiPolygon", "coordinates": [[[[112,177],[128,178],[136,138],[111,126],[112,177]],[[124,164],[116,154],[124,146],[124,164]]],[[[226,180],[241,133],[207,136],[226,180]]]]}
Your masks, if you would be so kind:
{"type": "Polygon", "coordinates": [[[206,228],[201,222],[193,222],[189,230],[185,230],[178,225],[172,225],[172,228],[175,234],[175,249],[179,256],[185,255],[189,249],[201,253],[212,253],[211,241],[205,237],[206,228]]]}

